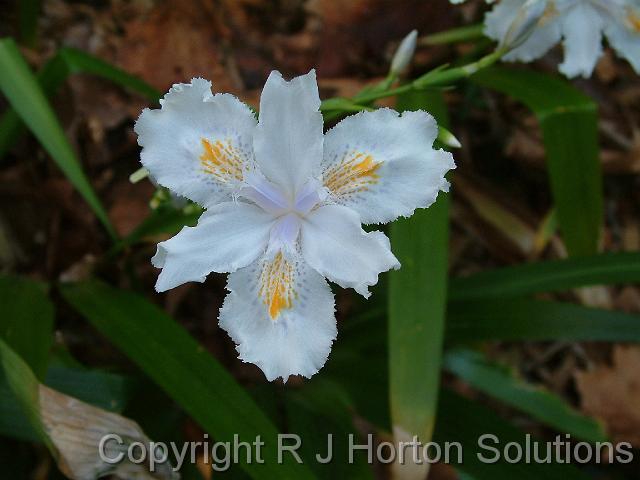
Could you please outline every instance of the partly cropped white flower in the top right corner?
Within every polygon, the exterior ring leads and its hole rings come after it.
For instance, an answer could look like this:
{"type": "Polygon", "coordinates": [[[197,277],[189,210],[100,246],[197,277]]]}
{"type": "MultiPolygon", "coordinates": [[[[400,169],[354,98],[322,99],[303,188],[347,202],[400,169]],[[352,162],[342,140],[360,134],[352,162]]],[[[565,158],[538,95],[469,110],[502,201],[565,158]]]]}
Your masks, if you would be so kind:
{"type": "MultiPolygon", "coordinates": [[[[451,0],[461,3],[464,0],[451,0]]],[[[602,39],[640,73],[640,1],[638,0],[502,0],[485,17],[487,36],[504,41],[523,8],[544,6],[531,35],[505,55],[530,62],[562,42],[567,77],[589,77],[602,55],[602,39]]]]}

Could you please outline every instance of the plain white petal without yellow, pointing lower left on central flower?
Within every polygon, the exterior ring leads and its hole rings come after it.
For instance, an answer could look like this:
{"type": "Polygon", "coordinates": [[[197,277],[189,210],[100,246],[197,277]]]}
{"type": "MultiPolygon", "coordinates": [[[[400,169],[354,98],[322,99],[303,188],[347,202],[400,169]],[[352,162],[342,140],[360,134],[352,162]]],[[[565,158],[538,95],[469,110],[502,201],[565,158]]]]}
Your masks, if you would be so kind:
{"type": "Polygon", "coordinates": [[[205,211],[198,225],[158,244],[152,259],[162,268],[156,290],[204,282],[211,272],[233,272],[262,255],[275,219],[248,203],[226,202],[205,211]]]}

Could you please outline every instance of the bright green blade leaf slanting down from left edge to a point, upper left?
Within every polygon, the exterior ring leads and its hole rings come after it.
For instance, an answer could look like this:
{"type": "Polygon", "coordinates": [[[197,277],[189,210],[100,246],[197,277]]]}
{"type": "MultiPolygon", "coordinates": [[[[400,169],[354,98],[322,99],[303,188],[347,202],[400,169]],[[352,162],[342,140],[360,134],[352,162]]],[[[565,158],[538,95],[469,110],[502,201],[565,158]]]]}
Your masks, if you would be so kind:
{"type": "Polygon", "coordinates": [[[0,70],[0,90],[65,176],[78,189],[109,234],[115,238],[115,230],[82,171],[60,123],[18,47],[10,38],[0,40],[0,70]]]}

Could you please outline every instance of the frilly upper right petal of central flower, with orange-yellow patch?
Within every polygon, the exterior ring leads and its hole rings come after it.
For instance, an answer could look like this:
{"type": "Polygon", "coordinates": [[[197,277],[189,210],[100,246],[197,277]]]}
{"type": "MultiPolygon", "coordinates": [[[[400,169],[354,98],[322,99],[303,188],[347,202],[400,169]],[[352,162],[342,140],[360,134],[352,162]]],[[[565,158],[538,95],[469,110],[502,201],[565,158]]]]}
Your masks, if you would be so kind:
{"type": "Polygon", "coordinates": [[[347,117],[325,136],[322,178],[332,198],[363,223],[386,223],[431,205],[449,183],[453,157],[434,150],[438,127],[426,112],[381,108],[347,117]]]}

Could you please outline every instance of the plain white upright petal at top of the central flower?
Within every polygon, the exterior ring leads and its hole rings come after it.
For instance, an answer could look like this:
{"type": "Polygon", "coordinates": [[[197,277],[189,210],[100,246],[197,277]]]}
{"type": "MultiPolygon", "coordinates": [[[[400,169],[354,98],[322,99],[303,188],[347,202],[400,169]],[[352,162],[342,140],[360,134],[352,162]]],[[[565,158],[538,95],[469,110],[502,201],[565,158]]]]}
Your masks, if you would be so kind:
{"type": "Polygon", "coordinates": [[[271,72],[253,142],[262,173],[295,198],[322,159],[322,138],[315,70],[289,82],[271,72]]]}

